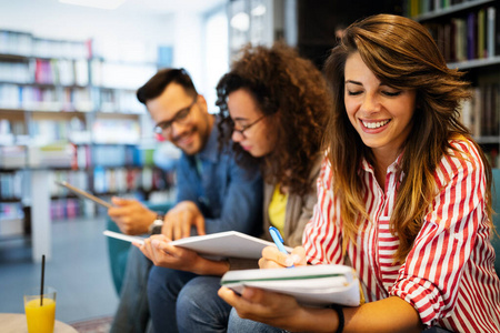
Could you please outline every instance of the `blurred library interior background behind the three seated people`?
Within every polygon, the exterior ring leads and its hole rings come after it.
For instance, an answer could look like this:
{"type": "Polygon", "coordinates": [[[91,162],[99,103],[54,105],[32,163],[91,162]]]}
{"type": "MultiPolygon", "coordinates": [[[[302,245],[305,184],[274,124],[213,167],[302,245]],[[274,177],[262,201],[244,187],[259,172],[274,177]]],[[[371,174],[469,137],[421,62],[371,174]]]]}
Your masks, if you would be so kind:
{"type": "Polygon", "coordinates": [[[137,90],[160,69],[184,68],[218,113],[216,87],[248,43],[284,41],[321,70],[336,31],[359,19],[422,23],[448,67],[472,83],[460,120],[500,180],[498,1],[313,2],[0,0],[0,314],[24,313],[23,292],[39,285],[44,258],[58,324],[109,330],[127,259],[119,255],[130,245],[102,234],[118,231],[107,206],[60,183],[164,213],[181,151],[154,133],[137,90]]]}

